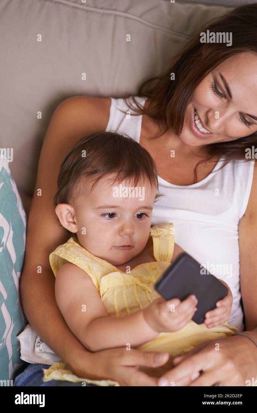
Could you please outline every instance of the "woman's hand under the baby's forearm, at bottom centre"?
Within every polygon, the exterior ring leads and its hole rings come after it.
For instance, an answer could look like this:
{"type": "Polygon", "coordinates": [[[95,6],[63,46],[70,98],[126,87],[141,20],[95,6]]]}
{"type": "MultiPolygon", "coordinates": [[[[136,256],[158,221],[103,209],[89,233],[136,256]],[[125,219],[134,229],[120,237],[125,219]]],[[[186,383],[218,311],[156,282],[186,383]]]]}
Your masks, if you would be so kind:
{"type": "Polygon", "coordinates": [[[114,380],[121,386],[157,386],[159,378],[148,376],[139,367],[163,366],[168,359],[168,353],[126,350],[122,347],[96,353],[77,352],[76,360],[70,367],[78,377],[114,380]]]}

